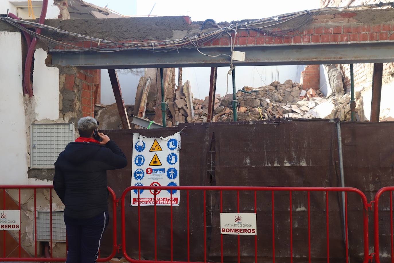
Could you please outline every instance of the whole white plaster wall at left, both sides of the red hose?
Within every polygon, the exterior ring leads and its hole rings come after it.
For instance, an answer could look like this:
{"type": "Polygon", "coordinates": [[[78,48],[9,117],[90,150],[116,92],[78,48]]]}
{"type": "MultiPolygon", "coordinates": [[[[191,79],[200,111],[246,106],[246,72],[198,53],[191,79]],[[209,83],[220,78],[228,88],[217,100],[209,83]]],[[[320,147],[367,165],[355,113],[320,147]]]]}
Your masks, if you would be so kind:
{"type": "Polygon", "coordinates": [[[0,130],[3,149],[0,151],[1,184],[50,184],[28,179],[29,126],[35,120],[59,118],[59,69],[47,67],[47,53],[38,49],[34,54],[34,96],[28,98],[22,91],[20,32],[0,32],[0,56],[7,62],[0,63],[0,127],[6,128],[0,130]]]}

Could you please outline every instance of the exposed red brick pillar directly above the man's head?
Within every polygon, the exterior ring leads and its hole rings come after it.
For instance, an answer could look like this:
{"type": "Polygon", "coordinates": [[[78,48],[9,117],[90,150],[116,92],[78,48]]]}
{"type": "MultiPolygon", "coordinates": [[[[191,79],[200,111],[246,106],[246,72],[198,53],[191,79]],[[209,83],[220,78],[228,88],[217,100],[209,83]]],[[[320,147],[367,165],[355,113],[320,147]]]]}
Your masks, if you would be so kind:
{"type": "MultiPolygon", "coordinates": [[[[82,116],[94,117],[95,84],[100,89],[100,69],[85,69],[77,73],[77,78],[82,80],[81,107],[82,116]]],[[[99,100],[99,96],[97,96],[99,100]]],[[[97,102],[96,102],[97,103],[97,102]]]]}

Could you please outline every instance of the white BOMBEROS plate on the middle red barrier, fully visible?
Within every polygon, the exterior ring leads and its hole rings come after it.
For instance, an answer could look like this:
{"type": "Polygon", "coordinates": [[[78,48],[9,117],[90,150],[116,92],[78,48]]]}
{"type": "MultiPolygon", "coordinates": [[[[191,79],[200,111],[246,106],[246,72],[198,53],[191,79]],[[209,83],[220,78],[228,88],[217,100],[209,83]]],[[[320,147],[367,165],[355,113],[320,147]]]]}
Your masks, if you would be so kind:
{"type": "Polygon", "coordinates": [[[220,213],[222,235],[256,235],[256,214],[220,213]]]}

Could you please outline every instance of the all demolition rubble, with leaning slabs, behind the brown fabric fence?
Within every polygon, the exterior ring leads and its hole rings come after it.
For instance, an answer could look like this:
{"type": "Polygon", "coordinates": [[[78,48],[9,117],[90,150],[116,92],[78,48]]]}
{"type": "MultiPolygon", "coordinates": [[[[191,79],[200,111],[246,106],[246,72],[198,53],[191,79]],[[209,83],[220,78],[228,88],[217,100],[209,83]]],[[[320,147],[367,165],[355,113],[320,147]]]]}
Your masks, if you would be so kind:
{"type": "MultiPolygon", "coordinates": [[[[176,126],[179,123],[198,123],[206,122],[208,119],[208,104],[209,97],[202,99],[193,99],[191,93],[190,82],[187,81],[183,86],[175,89],[175,74],[171,71],[167,72],[168,78],[164,78],[165,84],[165,99],[167,103],[166,123],[167,127],[176,126]],[[170,90],[170,92],[167,92],[170,90]]],[[[150,76],[151,78],[154,75],[150,76]]],[[[138,87],[139,94],[143,95],[143,88],[147,85],[148,79],[141,79],[138,87]]],[[[155,81],[151,80],[151,86],[155,85],[155,81]]],[[[149,90],[151,93],[152,90],[149,90]]],[[[299,83],[286,80],[283,84],[279,81],[272,82],[269,86],[262,86],[259,88],[244,87],[245,93],[238,91],[237,97],[237,115],[239,121],[253,121],[264,119],[277,118],[299,118],[299,119],[334,119],[340,118],[343,120],[350,119],[350,97],[348,94],[336,95],[326,98],[320,91],[313,89],[303,90],[303,86],[299,83]]],[[[157,90],[156,90],[157,91],[157,90]]],[[[147,93],[147,92],[145,92],[147,93]]],[[[160,98],[159,94],[152,96],[160,98]]],[[[147,99],[145,118],[154,120],[156,123],[162,123],[161,110],[157,106],[152,107],[154,99],[147,99]],[[160,117],[160,118],[159,118],[160,117]]],[[[145,98],[144,98],[145,100],[145,98]]],[[[141,103],[141,99],[136,103],[141,103]]],[[[156,103],[160,103],[156,100],[156,103]]],[[[157,104],[156,104],[157,105],[157,104]]],[[[160,105],[160,104],[158,104],[160,105]]],[[[142,108],[140,105],[138,108],[142,108]]],[[[106,123],[100,129],[121,129],[121,122],[116,104],[105,106],[103,108],[96,107],[96,117],[100,123],[106,123]]],[[[131,116],[141,110],[136,110],[133,106],[126,106],[128,108],[128,115],[131,116]]],[[[213,108],[213,121],[232,121],[232,94],[227,94],[220,97],[219,94],[215,96],[213,108]]]]}

